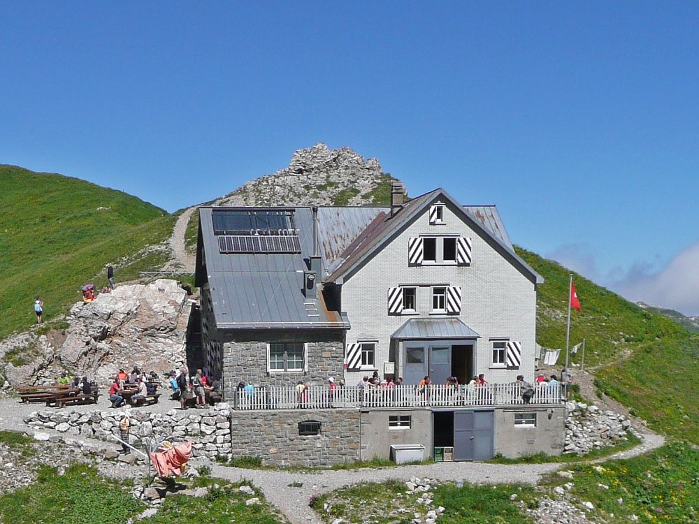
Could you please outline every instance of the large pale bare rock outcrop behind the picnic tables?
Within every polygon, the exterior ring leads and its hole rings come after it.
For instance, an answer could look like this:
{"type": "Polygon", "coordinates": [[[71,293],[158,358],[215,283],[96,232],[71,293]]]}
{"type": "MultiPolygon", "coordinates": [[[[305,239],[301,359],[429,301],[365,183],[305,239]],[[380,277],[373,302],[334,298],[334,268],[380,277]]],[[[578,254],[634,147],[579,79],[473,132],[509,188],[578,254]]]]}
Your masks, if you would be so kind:
{"type": "Polygon", "coordinates": [[[175,280],[119,286],[73,305],[62,337],[27,332],[0,343],[0,374],[13,386],[54,382],[62,370],[104,384],[119,367],[179,367],[186,360],[186,304],[175,280]]]}

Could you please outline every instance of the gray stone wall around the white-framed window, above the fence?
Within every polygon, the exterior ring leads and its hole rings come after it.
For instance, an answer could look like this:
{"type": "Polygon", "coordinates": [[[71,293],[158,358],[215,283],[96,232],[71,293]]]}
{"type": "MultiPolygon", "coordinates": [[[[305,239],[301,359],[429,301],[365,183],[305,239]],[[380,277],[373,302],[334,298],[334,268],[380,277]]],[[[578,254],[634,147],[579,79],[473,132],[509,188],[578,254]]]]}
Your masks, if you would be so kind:
{"type": "Polygon", "coordinates": [[[293,386],[326,384],[328,377],[343,376],[345,332],[343,330],[260,330],[231,335],[223,344],[223,382],[227,400],[233,398],[238,382],[254,386],[293,386]],[[306,370],[267,372],[267,344],[270,342],[304,342],[306,370]]]}

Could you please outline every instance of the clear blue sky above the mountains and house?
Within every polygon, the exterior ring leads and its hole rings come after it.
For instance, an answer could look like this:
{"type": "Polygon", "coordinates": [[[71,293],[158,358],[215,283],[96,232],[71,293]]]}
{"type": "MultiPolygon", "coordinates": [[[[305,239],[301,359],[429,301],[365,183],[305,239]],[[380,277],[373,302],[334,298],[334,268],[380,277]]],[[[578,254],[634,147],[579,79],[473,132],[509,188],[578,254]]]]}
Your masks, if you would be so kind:
{"type": "Polygon", "coordinates": [[[699,3],[0,1],[0,19],[0,163],[173,211],[347,145],[699,314],[699,3]]]}

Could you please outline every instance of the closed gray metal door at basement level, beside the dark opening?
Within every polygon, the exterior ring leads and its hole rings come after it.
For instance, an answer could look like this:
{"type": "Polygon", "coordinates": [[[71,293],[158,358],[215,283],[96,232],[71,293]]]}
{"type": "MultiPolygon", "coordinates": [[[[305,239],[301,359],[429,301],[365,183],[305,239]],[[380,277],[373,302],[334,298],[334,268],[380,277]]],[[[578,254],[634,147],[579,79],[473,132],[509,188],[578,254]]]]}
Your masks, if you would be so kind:
{"type": "Polygon", "coordinates": [[[454,412],[454,460],[493,458],[493,412],[454,412]]]}

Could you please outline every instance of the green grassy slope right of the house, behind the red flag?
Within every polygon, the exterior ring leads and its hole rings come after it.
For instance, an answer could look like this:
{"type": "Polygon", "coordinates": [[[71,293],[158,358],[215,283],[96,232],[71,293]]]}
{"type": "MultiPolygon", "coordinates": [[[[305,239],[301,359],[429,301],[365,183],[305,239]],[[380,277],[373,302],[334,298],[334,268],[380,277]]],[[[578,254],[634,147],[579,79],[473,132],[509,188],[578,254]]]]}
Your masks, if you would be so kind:
{"type": "MultiPolygon", "coordinates": [[[[570,270],[524,249],[517,252],[546,279],[538,290],[538,341],[564,348],[570,270]]],[[[596,367],[600,391],[658,432],[699,444],[699,385],[693,380],[699,375],[699,337],[580,275],[573,279],[582,311],[572,311],[570,343],[585,337],[586,367],[596,367]]],[[[580,358],[579,352],[571,355],[571,362],[580,358]]]]}

